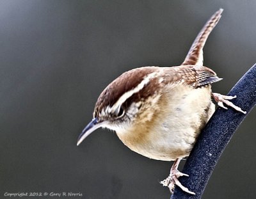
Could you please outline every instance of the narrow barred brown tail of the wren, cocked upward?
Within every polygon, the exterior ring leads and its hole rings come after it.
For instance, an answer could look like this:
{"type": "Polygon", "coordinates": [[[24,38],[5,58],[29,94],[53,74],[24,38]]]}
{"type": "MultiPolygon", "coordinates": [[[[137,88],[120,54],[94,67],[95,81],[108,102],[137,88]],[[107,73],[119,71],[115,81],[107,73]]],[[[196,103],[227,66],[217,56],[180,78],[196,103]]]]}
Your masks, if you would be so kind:
{"type": "Polygon", "coordinates": [[[198,33],[193,42],[189,52],[181,65],[199,65],[202,66],[204,62],[204,53],[203,48],[205,42],[210,35],[212,29],[218,24],[218,21],[221,18],[221,13],[223,9],[218,10],[214,15],[212,15],[211,19],[209,19],[204,28],[198,33]]]}

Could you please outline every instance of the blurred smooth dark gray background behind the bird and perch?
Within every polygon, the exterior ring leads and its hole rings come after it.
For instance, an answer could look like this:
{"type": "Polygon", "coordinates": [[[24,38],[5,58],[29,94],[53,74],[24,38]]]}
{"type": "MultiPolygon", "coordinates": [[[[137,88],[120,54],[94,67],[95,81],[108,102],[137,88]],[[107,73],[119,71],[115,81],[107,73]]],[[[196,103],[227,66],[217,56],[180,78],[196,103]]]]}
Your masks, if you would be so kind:
{"type": "MultiPolygon", "coordinates": [[[[106,129],[79,147],[77,136],[108,83],[131,68],[182,63],[219,8],[204,65],[224,78],[213,90],[225,94],[256,62],[256,1],[1,0],[0,198],[170,198],[159,181],[172,163],[132,152],[106,129]]],[[[203,198],[255,198],[255,116],[230,141],[203,198]]]]}

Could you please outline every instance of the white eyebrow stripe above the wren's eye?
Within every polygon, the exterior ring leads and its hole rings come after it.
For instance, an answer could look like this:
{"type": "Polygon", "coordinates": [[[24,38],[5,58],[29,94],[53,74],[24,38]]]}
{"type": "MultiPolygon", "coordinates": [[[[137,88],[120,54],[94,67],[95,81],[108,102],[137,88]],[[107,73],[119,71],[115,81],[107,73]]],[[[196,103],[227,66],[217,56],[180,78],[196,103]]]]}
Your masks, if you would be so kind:
{"type": "Polygon", "coordinates": [[[120,107],[125,100],[129,99],[129,97],[131,97],[134,93],[139,92],[141,89],[144,88],[145,85],[147,85],[150,81],[150,79],[156,77],[156,72],[152,72],[150,74],[148,74],[148,76],[144,77],[144,79],[141,81],[140,84],[138,84],[138,86],[136,86],[135,88],[133,88],[132,90],[129,90],[128,92],[125,92],[116,102],[115,104],[111,107],[111,111],[115,111],[118,107],[120,107]]]}

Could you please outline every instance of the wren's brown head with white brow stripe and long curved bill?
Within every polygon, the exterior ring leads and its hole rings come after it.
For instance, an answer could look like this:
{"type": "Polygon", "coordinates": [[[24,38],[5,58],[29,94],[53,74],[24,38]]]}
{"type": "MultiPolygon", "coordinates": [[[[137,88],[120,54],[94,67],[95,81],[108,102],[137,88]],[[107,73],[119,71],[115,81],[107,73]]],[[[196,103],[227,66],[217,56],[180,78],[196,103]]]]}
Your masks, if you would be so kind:
{"type": "Polygon", "coordinates": [[[141,67],[125,72],[109,84],[95,104],[93,120],[80,134],[79,145],[89,134],[100,127],[113,131],[124,131],[135,122],[150,119],[157,99],[158,67],[141,67]]]}

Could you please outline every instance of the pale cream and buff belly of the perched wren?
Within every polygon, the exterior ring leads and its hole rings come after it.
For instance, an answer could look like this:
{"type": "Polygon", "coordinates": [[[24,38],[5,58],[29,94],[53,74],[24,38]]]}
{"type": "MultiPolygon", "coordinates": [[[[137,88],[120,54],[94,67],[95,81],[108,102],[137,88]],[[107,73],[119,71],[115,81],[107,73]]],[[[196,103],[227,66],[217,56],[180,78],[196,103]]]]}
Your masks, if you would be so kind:
{"type": "Polygon", "coordinates": [[[188,156],[198,134],[214,112],[214,104],[211,89],[186,89],[179,88],[172,95],[165,96],[165,106],[161,106],[163,108],[149,126],[138,123],[131,131],[117,132],[118,137],[131,150],[150,159],[173,161],[188,156]]]}

